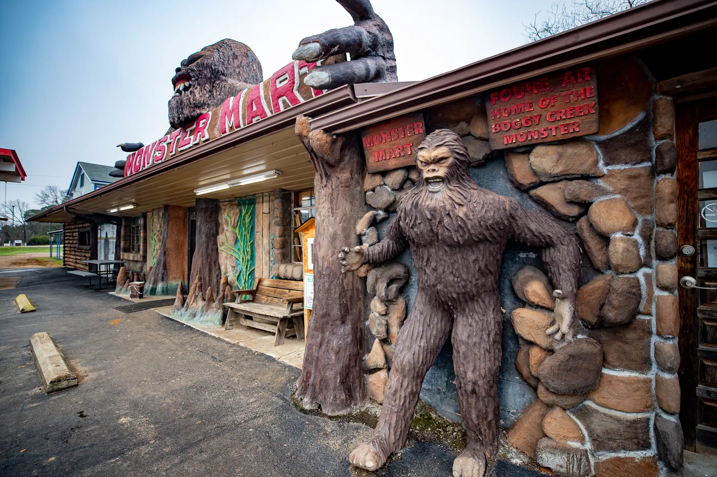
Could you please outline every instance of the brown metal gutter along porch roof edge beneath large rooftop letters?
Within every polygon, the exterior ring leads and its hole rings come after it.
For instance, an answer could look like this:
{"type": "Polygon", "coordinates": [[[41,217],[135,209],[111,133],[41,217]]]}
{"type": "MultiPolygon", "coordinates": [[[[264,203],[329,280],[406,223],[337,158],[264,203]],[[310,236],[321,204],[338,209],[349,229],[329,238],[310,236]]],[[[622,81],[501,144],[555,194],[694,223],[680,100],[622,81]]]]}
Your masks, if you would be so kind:
{"type": "Polygon", "coordinates": [[[156,177],[156,175],[163,173],[165,170],[174,170],[176,168],[181,168],[183,165],[194,163],[197,160],[207,158],[210,155],[214,155],[216,153],[221,152],[222,150],[234,148],[237,145],[246,143],[247,141],[250,141],[252,139],[259,138],[262,135],[276,133],[277,131],[285,129],[286,127],[294,127],[296,117],[298,115],[320,115],[322,113],[335,110],[338,107],[353,104],[354,102],[356,102],[356,96],[353,95],[353,88],[351,88],[350,86],[338,87],[336,88],[336,90],[326,92],[323,95],[314,97],[306,102],[301,103],[300,105],[291,107],[288,110],[277,112],[275,115],[269,116],[266,119],[257,121],[248,126],[244,126],[241,129],[234,130],[232,131],[232,133],[224,135],[221,138],[209,141],[209,143],[199,145],[195,148],[191,148],[184,153],[176,155],[171,160],[165,160],[161,164],[153,165],[152,167],[146,168],[145,170],[141,170],[138,173],[122,178],[120,180],[116,180],[115,182],[110,183],[107,186],[103,186],[95,191],[86,193],[78,198],[72,199],[71,201],[62,203],[62,205],[60,206],[49,208],[47,209],[47,211],[42,211],[37,215],[28,218],[27,220],[37,221],[51,213],[57,213],[63,210],[67,211],[67,213],[70,213],[69,208],[78,206],[84,201],[104,196],[108,193],[123,188],[124,186],[140,183],[143,180],[147,180],[148,178],[156,177]]]}

